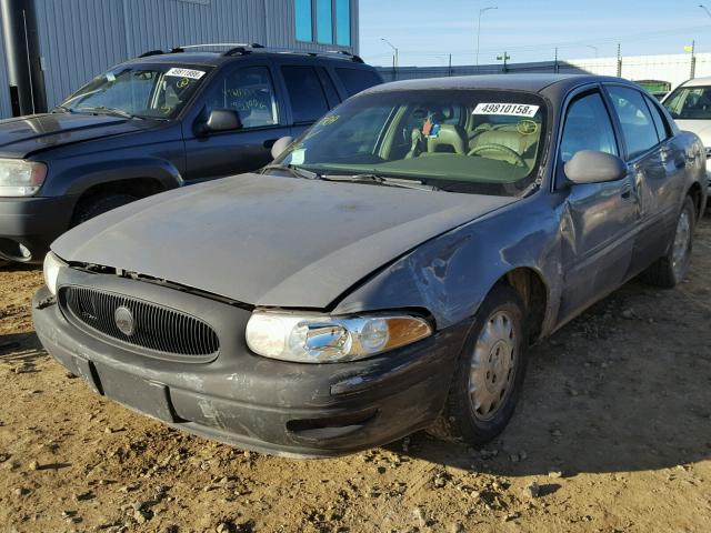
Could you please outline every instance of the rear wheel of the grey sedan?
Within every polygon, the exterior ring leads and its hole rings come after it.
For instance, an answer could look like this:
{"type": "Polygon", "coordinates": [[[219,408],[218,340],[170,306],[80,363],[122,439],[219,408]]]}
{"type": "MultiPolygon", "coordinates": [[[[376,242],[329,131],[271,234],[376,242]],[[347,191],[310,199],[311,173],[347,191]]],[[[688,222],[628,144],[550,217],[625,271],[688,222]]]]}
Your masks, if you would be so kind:
{"type": "Polygon", "coordinates": [[[658,259],[642,273],[642,280],[651,285],[672,289],[683,280],[693,248],[693,231],[697,224],[697,213],[691,197],[687,197],[677,219],[674,237],[667,254],[658,259]]]}

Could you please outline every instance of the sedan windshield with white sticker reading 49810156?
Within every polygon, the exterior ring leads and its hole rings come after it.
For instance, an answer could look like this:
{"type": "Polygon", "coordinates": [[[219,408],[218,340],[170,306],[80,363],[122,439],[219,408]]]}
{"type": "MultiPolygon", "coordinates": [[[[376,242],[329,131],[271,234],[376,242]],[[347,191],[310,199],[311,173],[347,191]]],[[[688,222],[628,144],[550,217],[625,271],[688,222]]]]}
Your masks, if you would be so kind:
{"type": "Polygon", "coordinates": [[[535,179],[545,115],[540,97],[519,91],[375,92],[332,110],[276,163],[518,194],[535,179]]]}

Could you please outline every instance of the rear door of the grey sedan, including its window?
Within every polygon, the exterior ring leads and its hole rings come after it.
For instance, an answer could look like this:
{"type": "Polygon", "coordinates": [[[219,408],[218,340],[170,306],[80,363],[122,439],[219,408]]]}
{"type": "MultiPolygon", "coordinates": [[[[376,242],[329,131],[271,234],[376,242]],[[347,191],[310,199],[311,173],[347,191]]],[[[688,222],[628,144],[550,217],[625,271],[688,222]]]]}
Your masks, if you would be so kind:
{"type": "Polygon", "coordinates": [[[638,273],[667,251],[679,214],[685,152],[670,135],[655,104],[641,91],[617,84],[605,84],[605,91],[620,124],[640,204],[632,258],[632,271],[638,273]]]}

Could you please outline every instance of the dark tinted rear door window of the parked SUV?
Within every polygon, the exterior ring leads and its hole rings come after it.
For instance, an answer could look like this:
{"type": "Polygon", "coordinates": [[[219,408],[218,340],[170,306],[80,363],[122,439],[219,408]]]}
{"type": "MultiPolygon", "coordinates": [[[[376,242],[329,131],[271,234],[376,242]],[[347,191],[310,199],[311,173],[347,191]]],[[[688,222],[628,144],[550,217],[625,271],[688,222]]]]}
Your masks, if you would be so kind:
{"type": "Polygon", "coordinates": [[[313,67],[282,67],[294,124],[314,122],[329,110],[323,87],[313,67]]]}

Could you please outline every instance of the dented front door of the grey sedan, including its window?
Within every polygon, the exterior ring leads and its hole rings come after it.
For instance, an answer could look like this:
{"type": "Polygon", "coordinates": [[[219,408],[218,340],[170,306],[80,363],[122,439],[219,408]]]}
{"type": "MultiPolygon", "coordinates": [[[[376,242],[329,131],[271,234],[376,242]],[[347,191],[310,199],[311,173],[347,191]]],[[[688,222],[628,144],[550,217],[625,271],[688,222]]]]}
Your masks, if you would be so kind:
{"type": "Polygon", "coordinates": [[[568,105],[558,152],[557,188],[567,190],[562,213],[561,320],[577,314],[627,280],[639,204],[632,177],[607,183],[568,184],[564,163],[580,150],[619,155],[621,147],[598,89],[568,105]]]}

